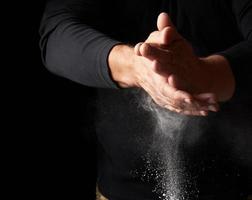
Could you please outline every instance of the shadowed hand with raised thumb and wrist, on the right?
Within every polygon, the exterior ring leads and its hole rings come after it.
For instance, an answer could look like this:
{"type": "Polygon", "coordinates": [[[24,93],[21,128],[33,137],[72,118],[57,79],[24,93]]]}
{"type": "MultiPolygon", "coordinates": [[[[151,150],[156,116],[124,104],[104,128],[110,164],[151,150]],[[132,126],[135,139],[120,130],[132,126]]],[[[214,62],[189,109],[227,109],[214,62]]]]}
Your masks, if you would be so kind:
{"type": "Polygon", "coordinates": [[[234,93],[234,76],[228,61],[219,55],[197,57],[191,45],[176,31],[169,16],[158,17],[158,31],[145,43],[135,46],[135,53],[148,58],[157,73],[166,75],[168,83],[192,94],[210,92],[218,101],[234,93]]]}

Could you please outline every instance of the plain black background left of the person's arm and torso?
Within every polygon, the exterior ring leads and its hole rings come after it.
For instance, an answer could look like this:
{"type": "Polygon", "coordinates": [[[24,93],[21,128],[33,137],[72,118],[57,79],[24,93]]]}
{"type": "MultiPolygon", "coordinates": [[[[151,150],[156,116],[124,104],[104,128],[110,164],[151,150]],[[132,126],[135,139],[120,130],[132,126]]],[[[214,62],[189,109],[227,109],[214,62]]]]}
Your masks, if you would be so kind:
{"type": "Polygon", "coordinates": [[[8,45],[5,82],[10,119],[5,124],[6,185],[10,196],[28,199],[95,199],[94,94],[43,66],[38,31],[44,4],[36,0],[8,7],[13,45],[8,45]]]}

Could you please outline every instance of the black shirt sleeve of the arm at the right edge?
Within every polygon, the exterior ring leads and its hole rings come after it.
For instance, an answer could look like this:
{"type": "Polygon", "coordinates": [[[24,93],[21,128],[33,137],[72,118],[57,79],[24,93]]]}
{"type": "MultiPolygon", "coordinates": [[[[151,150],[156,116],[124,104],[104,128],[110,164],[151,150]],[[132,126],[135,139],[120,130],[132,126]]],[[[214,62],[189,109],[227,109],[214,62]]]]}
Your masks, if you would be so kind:
{"type": "Polygon", "coordinates": [[[233,0],[232,11],[244,40],[219,54],[227,58],[233,70],[236,79],[236,99],[245,98],[244,92],[251,91],[249,80],[252,71],[252,1],[233,0]]]}

